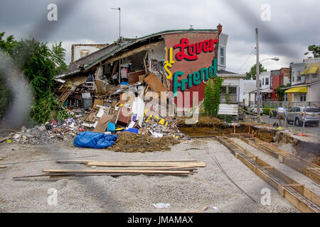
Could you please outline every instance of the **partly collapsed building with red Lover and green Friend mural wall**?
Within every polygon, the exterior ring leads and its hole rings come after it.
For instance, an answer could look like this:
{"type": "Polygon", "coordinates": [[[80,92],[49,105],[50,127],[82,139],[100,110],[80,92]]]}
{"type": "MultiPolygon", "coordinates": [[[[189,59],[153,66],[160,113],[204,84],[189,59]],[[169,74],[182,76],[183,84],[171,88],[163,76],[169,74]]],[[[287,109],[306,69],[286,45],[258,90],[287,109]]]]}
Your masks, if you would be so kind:
{"type": "MultiPolygon", "coordinates": [[[[121,38],[95,45],[94,52],[78,48],[80,58],[56,78],[55,94],[65,107],[91,109],[84,126],[98,132],[106,131],[107,122],[141,128],[153,119],[175,126],[174,116],[199,111],[206,81],[218,76],[224,79],[218,114],[239,116],[243,75],[225,70],[228,35],[221,33],[222,26],[217,28],[121,38]],[[145,117],[148,120],[143,121],[145,117]]],[[[73,45],[73,56],[74,51],[73,45]]]]}

